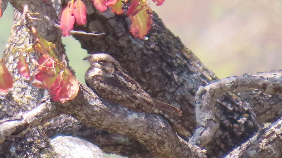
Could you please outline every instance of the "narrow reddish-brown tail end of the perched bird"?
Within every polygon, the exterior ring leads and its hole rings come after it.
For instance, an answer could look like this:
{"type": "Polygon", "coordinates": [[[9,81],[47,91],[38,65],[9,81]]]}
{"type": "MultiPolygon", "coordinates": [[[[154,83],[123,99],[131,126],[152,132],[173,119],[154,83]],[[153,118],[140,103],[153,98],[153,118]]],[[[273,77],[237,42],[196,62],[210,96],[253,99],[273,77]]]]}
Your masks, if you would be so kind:
{"type": "Polygon", "coordinates": [[[165,114],[171,115],[171,116],[181,116],[182,111],[172,105],[169,105],[167,103],[158,101],[158,100],[154,100],[155,105],[157,107],[157,109],[165,114]]]}

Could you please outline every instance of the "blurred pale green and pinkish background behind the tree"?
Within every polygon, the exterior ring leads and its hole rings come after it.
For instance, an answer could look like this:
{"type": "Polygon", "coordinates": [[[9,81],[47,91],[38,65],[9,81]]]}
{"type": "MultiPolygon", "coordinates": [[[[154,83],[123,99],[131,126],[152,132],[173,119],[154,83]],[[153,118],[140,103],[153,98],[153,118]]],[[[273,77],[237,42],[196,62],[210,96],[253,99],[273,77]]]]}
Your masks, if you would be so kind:
{"type": "MultiPolygon", "coordinates": [[[[281,0],[166,0],[162,6],[147,2],[219,78],[282,68],[281,0]]],[[[0,18],[0,41],[8,41],[12,14],[9,5],[0,18]]],[[[70,66],[84,82],[86,51],[72,37],[63,37],[63,43],[70,66]]],[[[4,49],[0,42],[0,51],[4,49]]]]}

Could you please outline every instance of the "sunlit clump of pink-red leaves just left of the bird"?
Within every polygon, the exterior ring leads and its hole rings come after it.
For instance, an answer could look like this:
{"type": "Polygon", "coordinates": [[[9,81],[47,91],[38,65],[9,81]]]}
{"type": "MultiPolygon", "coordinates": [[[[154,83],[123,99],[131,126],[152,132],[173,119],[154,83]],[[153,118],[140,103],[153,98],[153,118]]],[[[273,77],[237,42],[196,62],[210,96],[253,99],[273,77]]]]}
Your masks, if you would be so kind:
{"type": "Polygon", "coordinates": [[[33,85],[47,89],[54,101],[72,100],[78,94],[77,78],[59,60],[42,55],[38,59],[38,71],[33,85]]]}

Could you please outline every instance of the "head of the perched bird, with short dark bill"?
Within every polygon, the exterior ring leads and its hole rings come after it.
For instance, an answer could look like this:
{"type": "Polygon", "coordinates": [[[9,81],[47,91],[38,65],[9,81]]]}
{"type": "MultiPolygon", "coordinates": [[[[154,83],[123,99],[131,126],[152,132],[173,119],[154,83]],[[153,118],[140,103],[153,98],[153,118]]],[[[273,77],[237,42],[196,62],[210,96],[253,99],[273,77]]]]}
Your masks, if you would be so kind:
{"type": "Polygon", "coordinates": [[[108,54],[91,54],[83,60],[88,60],[92,68],[98,68],[110,74],[113,74],[115,70],[121,70],[120,64],[108,54]]]}

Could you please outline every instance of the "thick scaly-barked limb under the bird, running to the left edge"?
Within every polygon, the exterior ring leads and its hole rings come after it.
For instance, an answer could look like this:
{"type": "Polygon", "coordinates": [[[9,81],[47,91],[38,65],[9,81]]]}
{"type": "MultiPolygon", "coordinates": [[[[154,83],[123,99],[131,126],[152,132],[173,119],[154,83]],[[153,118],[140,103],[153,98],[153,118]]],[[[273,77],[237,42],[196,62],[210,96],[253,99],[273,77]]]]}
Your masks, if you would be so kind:
{"type": "MultiPolygon", "coordinates": [[[[40,116],[40,121],[46,121],[43,120],[45,119],[43,112],[50,114],[50,112],[54,112],[55,108],[52,108],[52,111],[47,111],[51,106],[51,101],[48,98],[42,100],[40,104],[39,107],[24,114],[22,120],[16,120],[19,121],[17,125],[20,123],[23,128],[28,125],[36,125],[39,119],[34,119],[32,116],[40,116]],[[29,120],[32,120],[30,124],[28,124],[29,120]]],[[[80,85],[80,92],[75,100],[67,103],[56,102],[55,104],[60,107],[58,109],[61,112],[70,114],[87,125],[133,137],[146,146],[155,157],[205,157],[204,152],[201,152],[197,146],[189,145],[177,136],[166,119],[157,114],[144,114],[127,110],[118,105],[110,105],[99,100],[89,87],[80,85]]],[[[47,116],[46,118],[49,119],[50,115],[47,116]]],[[[3,128],[5,131],[13,130],[14,127],[7,129],[6,126],[13,123],[14,120],[6,121],[2,127],[5,127],[3,128]]]]}

